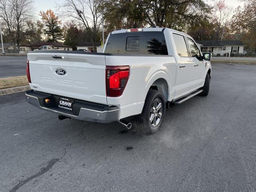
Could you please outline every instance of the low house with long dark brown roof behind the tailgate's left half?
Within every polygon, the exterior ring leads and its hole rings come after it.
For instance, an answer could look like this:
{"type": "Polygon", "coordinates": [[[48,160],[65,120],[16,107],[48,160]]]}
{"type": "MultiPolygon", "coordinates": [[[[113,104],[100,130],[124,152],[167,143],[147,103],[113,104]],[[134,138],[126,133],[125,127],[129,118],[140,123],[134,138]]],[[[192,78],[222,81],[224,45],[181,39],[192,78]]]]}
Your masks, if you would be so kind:
{"type": "Polygon", "coordinates": [[[32,44],[21,44],[20,45],[20,53],[27,53],[28,51],[34,51],[42,46],[52,45],[55,49],[61,49],[66,51],[72,51],[73,48],[68,45],[64,45],[58,42],[38,42],[32,44]]]}

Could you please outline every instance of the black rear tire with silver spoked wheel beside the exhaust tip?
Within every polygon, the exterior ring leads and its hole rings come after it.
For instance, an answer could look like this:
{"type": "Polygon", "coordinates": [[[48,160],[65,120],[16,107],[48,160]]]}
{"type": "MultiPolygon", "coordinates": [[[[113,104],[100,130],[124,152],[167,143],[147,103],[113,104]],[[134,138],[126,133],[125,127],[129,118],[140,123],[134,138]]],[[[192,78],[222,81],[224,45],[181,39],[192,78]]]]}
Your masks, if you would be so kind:
{"type": "Polygon", "coordinates": [[[162,123],[164,120],[165,108],[166,108],[166,100],[164,98],[164,95],[158,90],[149,90],[146,96],[142,114],[136,116],[137,130],[140,133],[145,133],[145,134],[153,134],[157,132],[162,126],[162,123]],[[157,104],[158,106],[160,102],[162,104],[162,108],[161,110],[160,108],[159,110],[157,110],[157,108],[154,107],[154,104],[157,104]],[[152,115],[154,115],[153,118],[151,117],[152,115]],[[152,118],[151,121],[150,121],[150,118],[152,118]]]}

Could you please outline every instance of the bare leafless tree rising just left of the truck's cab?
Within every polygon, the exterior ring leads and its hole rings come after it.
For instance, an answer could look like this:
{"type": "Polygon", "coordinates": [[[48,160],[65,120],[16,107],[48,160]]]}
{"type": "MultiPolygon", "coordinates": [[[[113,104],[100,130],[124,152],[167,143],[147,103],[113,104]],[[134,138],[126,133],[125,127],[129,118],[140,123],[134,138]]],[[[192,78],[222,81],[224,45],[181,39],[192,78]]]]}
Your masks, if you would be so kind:
{"type": "Polygon", "coordinates": [[[94,51],[96,50],[96,38],[102,22],[100,5],[103,0],[64,0],[64,3],[58,5],[61,15],[64,17],[75,18],[88,31],[94,51]]]}

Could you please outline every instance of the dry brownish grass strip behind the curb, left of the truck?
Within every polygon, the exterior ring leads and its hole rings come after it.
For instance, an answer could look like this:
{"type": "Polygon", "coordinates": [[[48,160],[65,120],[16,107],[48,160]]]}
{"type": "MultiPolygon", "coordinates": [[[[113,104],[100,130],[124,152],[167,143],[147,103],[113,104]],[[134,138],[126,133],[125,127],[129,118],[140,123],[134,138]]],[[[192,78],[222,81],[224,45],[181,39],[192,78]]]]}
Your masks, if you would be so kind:
{"type": "Polygon", "coordinates": [[[0,78],[0,89],[28,85],[27,76],[0,78]]]}

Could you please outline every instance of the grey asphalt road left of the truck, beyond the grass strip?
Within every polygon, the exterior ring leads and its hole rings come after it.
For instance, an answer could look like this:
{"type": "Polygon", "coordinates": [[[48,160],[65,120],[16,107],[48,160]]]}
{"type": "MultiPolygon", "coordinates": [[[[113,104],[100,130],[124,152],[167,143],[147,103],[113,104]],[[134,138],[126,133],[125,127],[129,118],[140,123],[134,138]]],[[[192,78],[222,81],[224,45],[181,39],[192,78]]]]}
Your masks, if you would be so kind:
{"type": "Polygon", "coordinates": [[[0,78],[26,75],[27,57],[0,56],[0,78]]]}

